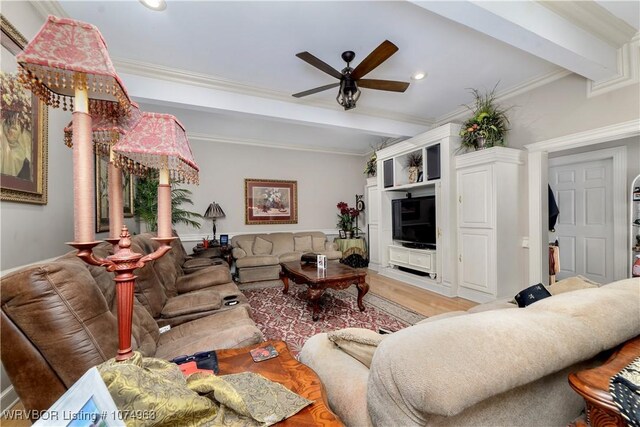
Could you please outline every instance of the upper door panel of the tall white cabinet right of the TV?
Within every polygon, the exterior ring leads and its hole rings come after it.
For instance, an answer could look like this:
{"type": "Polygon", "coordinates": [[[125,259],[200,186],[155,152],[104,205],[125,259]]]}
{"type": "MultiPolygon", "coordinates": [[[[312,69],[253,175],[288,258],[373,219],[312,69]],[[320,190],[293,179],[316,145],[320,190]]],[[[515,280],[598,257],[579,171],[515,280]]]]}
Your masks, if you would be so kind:
{"type": "Polygon", "coordinates": [[[458,178],[458,221],[460,227],[493,226],[493,166],[460,169],[458,178]]]}

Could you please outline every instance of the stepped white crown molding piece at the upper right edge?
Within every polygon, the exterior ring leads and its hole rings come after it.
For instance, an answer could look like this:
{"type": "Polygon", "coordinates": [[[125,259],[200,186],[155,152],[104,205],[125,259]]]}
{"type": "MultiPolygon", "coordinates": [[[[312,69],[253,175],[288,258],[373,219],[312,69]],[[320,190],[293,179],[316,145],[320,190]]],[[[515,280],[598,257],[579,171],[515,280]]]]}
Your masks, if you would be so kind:
{"type": "Polygon", "coordinates": [[[640,33],[618,49],[618,72],[609,79],[587,81],[587,98],[640,82],[640,33]]]}

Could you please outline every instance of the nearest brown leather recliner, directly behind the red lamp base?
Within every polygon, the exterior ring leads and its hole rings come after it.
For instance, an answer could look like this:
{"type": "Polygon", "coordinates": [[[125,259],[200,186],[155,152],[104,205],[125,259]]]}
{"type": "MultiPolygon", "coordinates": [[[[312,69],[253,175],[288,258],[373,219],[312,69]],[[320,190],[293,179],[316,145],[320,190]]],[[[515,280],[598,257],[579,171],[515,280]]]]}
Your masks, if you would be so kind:
{"type": "MultiPolygon", "coordinates": [[[[1,279],[0,358],[27,410],[49,408],[89,368],[115,356],[116,310],[112,273],[74,255],[1,279]]],[[[245,307],[160,334],[149,312],[134,301],[132,345],[145,356],[171,359],[263,340],[245,307]]]]}

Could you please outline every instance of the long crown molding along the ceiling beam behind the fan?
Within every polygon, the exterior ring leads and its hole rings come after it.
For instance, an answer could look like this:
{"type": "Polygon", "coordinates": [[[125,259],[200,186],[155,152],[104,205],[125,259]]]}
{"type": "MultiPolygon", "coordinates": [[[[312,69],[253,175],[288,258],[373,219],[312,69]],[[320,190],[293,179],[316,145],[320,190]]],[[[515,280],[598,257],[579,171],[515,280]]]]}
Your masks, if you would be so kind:
{"type": "MultiPolygon", "coordinates": [[[[222,90],[225,92],[238,93],[248,96],[259,96],[262,98],[283,101],[291,104],[309,105],[319,108],[335,109],[336,103],[321,100],[296,99],[289,93],[266,89],[260,86],[247,85],[234,82],[211,74],[197,73],[194,71],[179,68],[166,67],[163,65],[148,62],[136,61],[133,59],[114,58],[115,67],[123,73],[135,74],[143,77],[150,77],[159,80],[166,80],[175,83],[182,83],[191,86],[204,87],[208,89],[222,90]]],[[[373,108],[360,108],[350,112],[363,116],[379,117],[404,123],[417,124],[421,126],[431,126],[432,120],[408,114],[390,113],[373,108]]]]}

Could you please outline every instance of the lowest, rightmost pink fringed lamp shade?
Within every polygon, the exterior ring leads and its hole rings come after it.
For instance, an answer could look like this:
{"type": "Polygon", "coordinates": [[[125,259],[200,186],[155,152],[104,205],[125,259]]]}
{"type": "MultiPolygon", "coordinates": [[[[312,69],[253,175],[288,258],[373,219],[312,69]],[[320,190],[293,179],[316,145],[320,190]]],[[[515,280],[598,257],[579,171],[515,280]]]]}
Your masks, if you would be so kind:
{"type": "Polygon", "coordinates": [[[116,162],[132,160],[148,168],[168,169],[172,181],[198,184],[200,169],[193,159],[184,126],[170,114],[143,112],[113,151],[116,162]]]}

